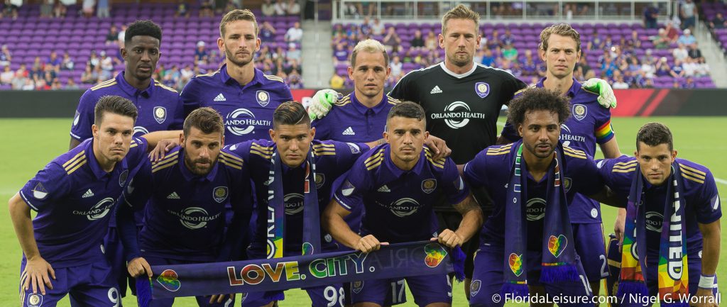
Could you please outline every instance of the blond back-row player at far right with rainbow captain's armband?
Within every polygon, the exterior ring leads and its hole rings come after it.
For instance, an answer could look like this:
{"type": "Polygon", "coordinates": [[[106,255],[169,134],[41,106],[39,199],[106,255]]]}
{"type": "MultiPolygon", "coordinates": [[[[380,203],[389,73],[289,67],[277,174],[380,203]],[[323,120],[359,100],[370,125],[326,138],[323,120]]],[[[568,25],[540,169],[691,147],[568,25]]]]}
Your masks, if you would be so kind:
{"type": "MultiPolygon", "coordinates": [[[[581,57],[580,34],[570,25],[559,24],[540,33],[539,54],[547,65],[545,78],[534,87],[558,91],[570,98],[572,116],[561,126],[561,142],[577,147],[587,155],[595,155],[596,144],[606,158],[619,157],[619,144],[611,128],[611,110],[598,104],[598,94],[582,88],[573,78],[573,70],[581,57]]],[[[518,94],[516,93],[515,96],[518,94]]],[[[521,139],[515,127],[506,123],[498,140],[507,144],[521,139]]],[[[529,212],[542,212],[545,204],[528,205],[529,212]]],[[[608,277],[606,249],[603,242],[601,204],[577,194],[569,205],[576,253],[581,258],[586,277],[594,295],[600,290],[599,281],[608,277]]]]}

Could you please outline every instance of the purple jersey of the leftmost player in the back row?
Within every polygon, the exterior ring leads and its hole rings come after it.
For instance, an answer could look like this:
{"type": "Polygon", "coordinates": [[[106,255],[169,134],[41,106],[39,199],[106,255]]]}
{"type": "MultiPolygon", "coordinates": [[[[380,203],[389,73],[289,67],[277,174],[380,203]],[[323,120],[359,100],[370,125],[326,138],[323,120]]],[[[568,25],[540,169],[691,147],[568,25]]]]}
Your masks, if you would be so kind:
{"type": "Polygon", "coordinates": [[[134,126],[134,136],[142,136],[153,131],[178,130],[182,128],[184,114],[179,94],[159,81],[153,80],[149,87],[140,91],[124,79],[122,71],[116,78],[98,83],[88,89],[76,109],[76,116],[71,126],[73,139],[83,141],[91,137],[91,126],[94,122],[94,107],[103,96],[115,95],[134,102],[139,116],[134,126]]]}

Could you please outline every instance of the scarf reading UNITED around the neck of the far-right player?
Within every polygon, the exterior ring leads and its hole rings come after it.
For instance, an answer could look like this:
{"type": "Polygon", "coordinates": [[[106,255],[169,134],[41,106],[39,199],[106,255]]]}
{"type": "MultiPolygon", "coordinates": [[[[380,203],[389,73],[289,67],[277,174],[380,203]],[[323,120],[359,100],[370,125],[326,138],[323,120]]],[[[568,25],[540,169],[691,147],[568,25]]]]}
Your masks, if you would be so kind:
{"type": "MultiPolygon", "coordinates": [[[[630,302],[625,298],[634,295],[648,295],[646,287],[646,206],[643,205],[644,179],[640,166],[635,163],[635,176],[631,184],[626,207],[626,226],[621,255],[621,277],[618,296],[624,298],[620,306],[643,306],[643,303],[630,302]],[[637,248],[638,247],[638,248],[637,248]]],[[[664,223],[659,242],[659,300],[662,306],[688,307],[686,298],[689,290],[689,273],[684,236],[684,200],[681,198],[683,186],[680,180],[679,164],[672,163],[672,173],[667,180],[667,201],[664,204],[664,223]],[[670,218],[666,218],[666,217],[670,218]]]]}

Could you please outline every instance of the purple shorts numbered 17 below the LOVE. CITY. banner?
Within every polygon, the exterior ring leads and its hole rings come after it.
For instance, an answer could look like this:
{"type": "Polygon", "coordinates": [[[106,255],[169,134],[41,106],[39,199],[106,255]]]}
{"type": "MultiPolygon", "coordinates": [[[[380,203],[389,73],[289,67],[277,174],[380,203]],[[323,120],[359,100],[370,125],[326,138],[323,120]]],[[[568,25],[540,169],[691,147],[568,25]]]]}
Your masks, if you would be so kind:
{"type": "MultiPolygon", "coordinates": [[[[452,286],[447,275],[428,275],[417,277],[404,277],[409,285],[414,303],[417,306],[427,306],[430,303],[452,303],[452,286]]],[[[377,303],[385,306],[391,289],[399,289],[394,295],[395,300],[401,301],[404,296],[403,279],[369,279],[351,282],[351,301],[355,303],[377,303]]]]}

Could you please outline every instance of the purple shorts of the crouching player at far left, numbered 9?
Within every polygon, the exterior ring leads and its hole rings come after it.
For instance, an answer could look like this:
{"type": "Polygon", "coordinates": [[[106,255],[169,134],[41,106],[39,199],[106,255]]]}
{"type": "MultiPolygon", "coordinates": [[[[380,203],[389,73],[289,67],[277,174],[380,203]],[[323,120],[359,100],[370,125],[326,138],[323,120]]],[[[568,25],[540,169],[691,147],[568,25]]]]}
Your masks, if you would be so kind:
{"type": "Polygon", "coordinates": [[[20,263],[20,306],[56,306],[65,295],[71,295],[80,306],[120,306],[121,295],[108,263],[87,263],[54,270],[53,289],[46,287],[46,294],[42,295],[40,291],[33,293],[33,287],[23,290],[27,277],[23,274],[25,261],[20,263]]]}

